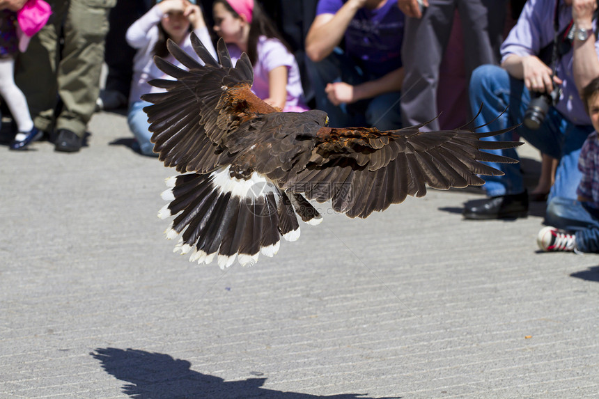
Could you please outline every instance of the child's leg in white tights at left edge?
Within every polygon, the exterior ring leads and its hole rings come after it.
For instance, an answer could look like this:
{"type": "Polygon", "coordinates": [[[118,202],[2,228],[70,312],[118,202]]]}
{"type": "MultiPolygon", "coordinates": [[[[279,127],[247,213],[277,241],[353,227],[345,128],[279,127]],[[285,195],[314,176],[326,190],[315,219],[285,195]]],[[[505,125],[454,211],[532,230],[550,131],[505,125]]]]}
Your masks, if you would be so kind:
{"type": "Polygon", "coordinates": [[[15,59],[0,58],[0,95],[6,101],[10,113],[13,114],[19,132],[33,129],[33,120],[23,92],[15,84],[15,59]]]}

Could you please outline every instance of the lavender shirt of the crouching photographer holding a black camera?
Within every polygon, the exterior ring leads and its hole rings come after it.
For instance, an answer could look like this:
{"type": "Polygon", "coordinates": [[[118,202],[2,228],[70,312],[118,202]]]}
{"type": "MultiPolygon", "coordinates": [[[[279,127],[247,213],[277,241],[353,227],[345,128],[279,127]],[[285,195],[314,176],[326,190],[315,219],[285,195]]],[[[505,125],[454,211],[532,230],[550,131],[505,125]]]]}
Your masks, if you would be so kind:
{"type": "MultiPolygon", "coordinates": [[[[508,37],[501,45],[501,62],[508,55],[518,56],[538,55],[540,49],[553,41],[555,0],[529,0],[524,5],[518,23],[513,27],[508,37]]],[[[570,24],[572,20],[572,7],[561,2],[559,8],[559,31],[570,24]]],[[[593,29],[596,22],[593,20],[593,29]]],[[[595,42],[595,49],[599,56],[599,38],[595,42]]],[[[591,119],[584,111],[584,105],[574,82],[573,77],[573,52],[563,54],[556,68],[556,75],[563,80],[562,94],[556,109],[575,125],[591,125],[591,119]]]]}

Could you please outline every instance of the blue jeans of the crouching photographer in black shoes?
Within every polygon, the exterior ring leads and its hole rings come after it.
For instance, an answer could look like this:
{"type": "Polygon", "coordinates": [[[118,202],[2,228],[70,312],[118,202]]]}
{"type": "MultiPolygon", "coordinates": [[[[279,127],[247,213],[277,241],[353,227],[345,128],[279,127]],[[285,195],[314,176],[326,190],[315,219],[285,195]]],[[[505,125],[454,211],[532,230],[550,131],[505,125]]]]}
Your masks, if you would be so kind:
{"type": "MultiPolygon", "coordinates": [[[[481,104],[483,107],[481,114],[476,117],[475,124],[477,126],[488,124],[481,127],[479,132],[501,130],[522,123],[524,112],[530,102],[530,93],[524,86],[524,82],[511,77],[506,70],[495,65],[481,65],[472,72],[469,94],[473,114],[476,115],[481,104]],[[508,106],[508,110],[501,114],[508,106]],[[500,114],[501,116],[499,116],[500,114]]],[[[554,196],[575,199],[576,188],[582,177],[578,170],[578,156],[582,143],[586,136],[593,132],[593,127],[591,125],[574,125],[554,107],[550,107],[545,122],[538,130],[530,130],[522,125],[515,132],[541,152],[559,159],[555,184],[550,191],[549,199],[554,196]]],[[[483,140],[511,139],[511,132],[507,132],[483,140]]],[[[518,159],[515,149],[489,150],[488,152],[518,159]]],[[[524,191],[519,164],[490,165],[504,172],[505,175],[483,176],[485,179],[483,188],[489,196],[519,194],[524,191]]]]}

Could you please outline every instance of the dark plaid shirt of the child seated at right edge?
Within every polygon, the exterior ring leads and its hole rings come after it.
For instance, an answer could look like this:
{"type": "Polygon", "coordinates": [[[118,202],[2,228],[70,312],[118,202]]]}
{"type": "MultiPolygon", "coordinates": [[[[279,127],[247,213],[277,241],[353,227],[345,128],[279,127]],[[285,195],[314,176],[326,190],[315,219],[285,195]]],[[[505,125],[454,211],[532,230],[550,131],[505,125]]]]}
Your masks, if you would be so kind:
{"type": "Polygon", "coordinates": [[[599,208],[599,137],[597,132],[589,134],[578,159],[578,169],[582,172],[582,179],[576,194],[591,198],[595,208],[599,208]]]}

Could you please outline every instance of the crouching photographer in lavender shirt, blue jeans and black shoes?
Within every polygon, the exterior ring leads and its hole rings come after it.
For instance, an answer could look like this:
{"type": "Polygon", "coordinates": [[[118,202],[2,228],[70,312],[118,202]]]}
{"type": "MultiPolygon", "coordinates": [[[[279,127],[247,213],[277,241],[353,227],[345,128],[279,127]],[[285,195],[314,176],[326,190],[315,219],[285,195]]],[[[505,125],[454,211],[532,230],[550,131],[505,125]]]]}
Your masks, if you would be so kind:
{"type": "MultiPolygon", "coordinates": [[[[479,132],[517,127],[543,154],[559,159],[548,196],[576,198],[582,143],[593,126],[579,91],[599,76],[597,0],[530,0],[501,45],[501,67],[481,65],[470,80],[479,132]],[[482,108],[481,108],[482,107],[482,108]]],[[[509,140],[512,133],[487,140],[509,140]]],[[[494,151],[490,151],[494,152],[494,151]]],[[[497,155],[518,159],[515,150],[497,155]]],[[[505,174],[485,176],[489,198],[465,205],[465,219],[526,217],[529,203],[519,164],[492,164],[505,174]]]]}

